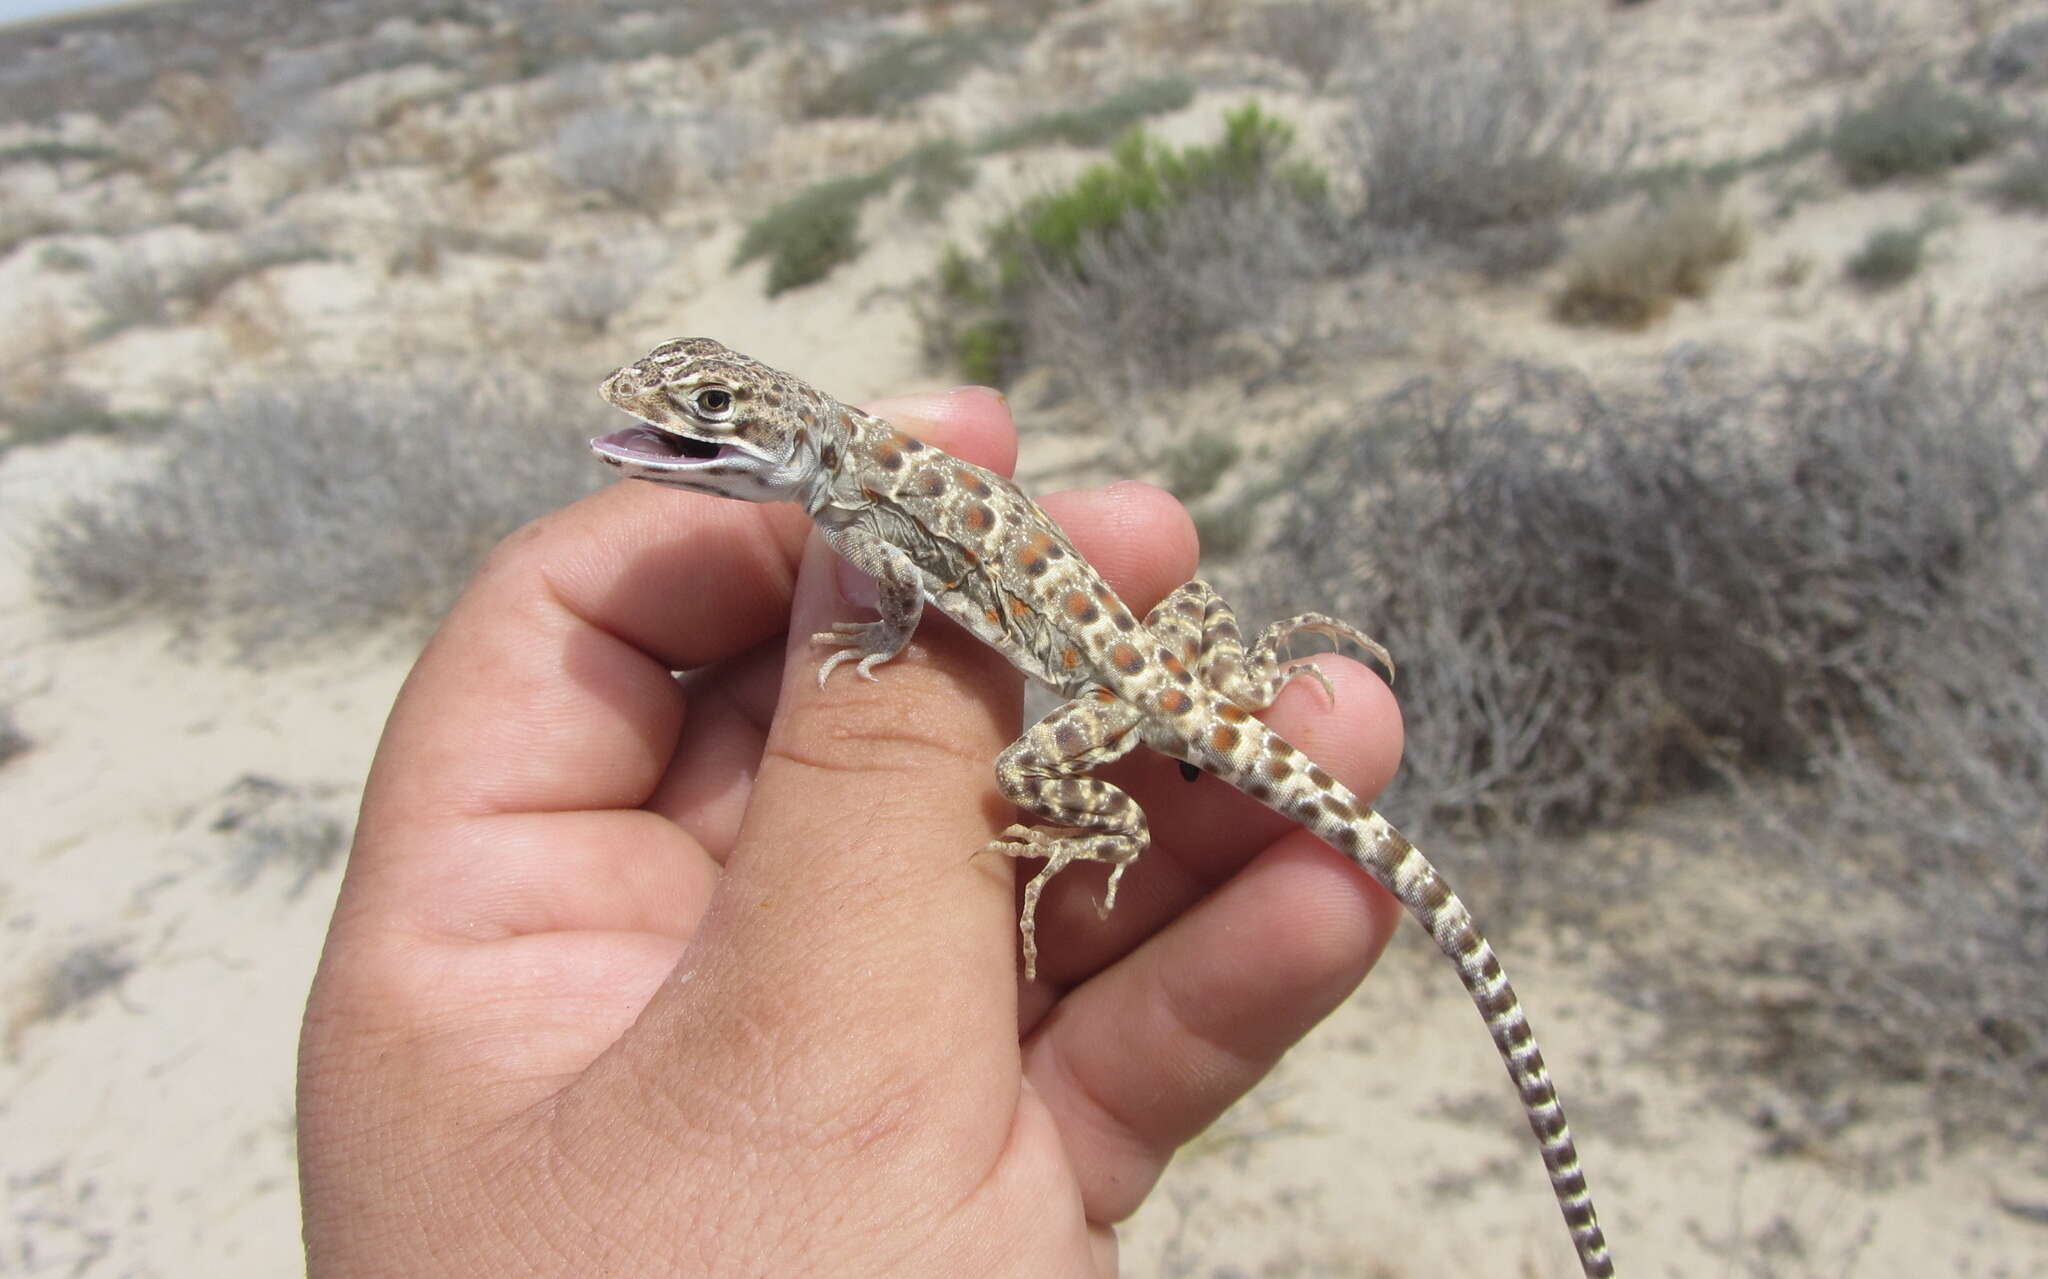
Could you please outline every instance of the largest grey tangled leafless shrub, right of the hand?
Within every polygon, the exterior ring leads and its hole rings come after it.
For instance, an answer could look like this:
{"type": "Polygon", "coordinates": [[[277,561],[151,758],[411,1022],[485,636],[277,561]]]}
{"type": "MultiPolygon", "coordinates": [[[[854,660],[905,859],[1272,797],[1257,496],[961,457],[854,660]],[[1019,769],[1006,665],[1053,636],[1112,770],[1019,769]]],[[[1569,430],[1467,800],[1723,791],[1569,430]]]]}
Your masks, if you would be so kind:
{"type": "Polygon", "coordinates": [[[1796,784],[1780,853],[1804,841],[1819,892],[1892,913],[1788,939],[1815,1052],[2025,1121],[2048,1099],[2044,354],[1921,327],[1763,372],[1694,354],[1642,397],[1532,368],[1417,383],[1296,458],[1253,593],[1403,659],[1395,808],[1423,821],[1569,831],[1796,784]]]}

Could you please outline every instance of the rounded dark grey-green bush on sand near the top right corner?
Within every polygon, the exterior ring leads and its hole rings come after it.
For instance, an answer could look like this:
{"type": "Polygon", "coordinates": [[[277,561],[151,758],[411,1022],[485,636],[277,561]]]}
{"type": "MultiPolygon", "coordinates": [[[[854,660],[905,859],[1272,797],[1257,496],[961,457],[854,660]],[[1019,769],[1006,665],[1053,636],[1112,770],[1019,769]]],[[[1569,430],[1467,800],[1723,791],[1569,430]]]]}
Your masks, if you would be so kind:
{"type": "Polygon", "coordinates": [[[2011,133],[1995,106],[1939,84],[1931,72],[1892,80],[1845,111],[1827,149],[1849,182],[1925,178],[1991,153],[2011,133]]]}

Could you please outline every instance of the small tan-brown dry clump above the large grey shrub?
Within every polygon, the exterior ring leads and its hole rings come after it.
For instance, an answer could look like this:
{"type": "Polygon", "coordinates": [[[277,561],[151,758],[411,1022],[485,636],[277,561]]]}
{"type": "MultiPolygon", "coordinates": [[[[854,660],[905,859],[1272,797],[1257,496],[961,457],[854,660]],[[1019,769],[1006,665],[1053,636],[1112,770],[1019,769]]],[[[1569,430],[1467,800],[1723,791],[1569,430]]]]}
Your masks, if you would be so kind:
{"type": "Polygon", "coordinates": [[[1552,311],[1565,323],[1640,329],[1681,297],[1706,297],[1749,248],[1749,227],[1718,192],[1688,188],[1579,248],[1552,311]]]}

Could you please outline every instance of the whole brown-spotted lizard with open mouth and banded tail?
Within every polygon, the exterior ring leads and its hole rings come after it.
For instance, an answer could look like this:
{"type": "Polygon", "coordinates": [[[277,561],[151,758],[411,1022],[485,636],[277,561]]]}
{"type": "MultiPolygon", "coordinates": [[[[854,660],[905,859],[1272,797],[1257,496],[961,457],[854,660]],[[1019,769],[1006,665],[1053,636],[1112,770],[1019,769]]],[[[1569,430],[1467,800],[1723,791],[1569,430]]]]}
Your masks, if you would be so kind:
{"type": "Polygon", "coordinates": [[[743,501],[795,501],[823,538],[877,583],[872,622],[836,622],[813,643],[823,686],[852,663],[874,667],[909,643],[926,606],[1067,698],[995,761],[997,790],[1047,825],[1012,825],[987,851],[1042,857],[1022,896],[1024,978],[1036,976],[1036,909],[1073,862],[1106,862],[1100,911],[1147,849],[1139,804],[1087,776],[1139,745],[1208,771],[1300,823],[1386,886],[1430,931],[1487,1021],[1542,1150],[1550,1187],[1587,1279],[1614,1263],[1579,1150],[1528,1015],[1470,911],[1427,857],[1341,782],[1268,729],[1286,683],[1329,677],[1286,655],[1294,634],[1376,641],[1321,614],[1268,626],[1245,645],[1204,581],[1171,591],[1145,620],[1030,497],[1008,479],[852,409],[711,338],[676,338],[604,379],[602,397],[635,426],[590,442],[631,479],[743,501]]]}

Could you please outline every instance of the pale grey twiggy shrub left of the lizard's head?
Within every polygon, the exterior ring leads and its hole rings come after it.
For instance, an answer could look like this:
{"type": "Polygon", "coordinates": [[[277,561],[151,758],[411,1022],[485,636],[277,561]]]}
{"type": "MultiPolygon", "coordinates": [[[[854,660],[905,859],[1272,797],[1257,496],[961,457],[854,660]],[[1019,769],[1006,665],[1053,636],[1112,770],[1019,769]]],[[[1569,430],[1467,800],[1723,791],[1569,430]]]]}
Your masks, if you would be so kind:
{"type": "Polygon", "coordinates": [[[588,393],[520,370],[283,381],[195,405],[154,475],[39,530],[43,598],[246,649],[438,614],[498,538],[594,487],[588,393]]]}

